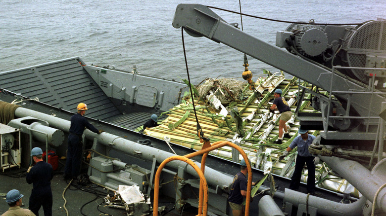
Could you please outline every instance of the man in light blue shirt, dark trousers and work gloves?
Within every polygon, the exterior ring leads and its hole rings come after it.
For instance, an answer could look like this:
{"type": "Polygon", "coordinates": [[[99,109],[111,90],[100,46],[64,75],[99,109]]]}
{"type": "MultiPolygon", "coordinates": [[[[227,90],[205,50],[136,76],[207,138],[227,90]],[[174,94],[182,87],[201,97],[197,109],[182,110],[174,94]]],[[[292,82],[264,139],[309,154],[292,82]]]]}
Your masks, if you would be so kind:
{"type": "MultiPolygon", "coordinates": [[[[308,146],[312,144],[315,139],[314,135],[308,134],[308,130],[299,128],[300,136],[295,137],[290,146],[284,151],[283,155],[279,157],[279,160],[283,160],[289,152],[297,146],[297,158],[295,164],[295,171],[293,172],[290,189],[298,190],[300,185],[301,172],[304,164],[307,164],[308,178],[307,178],[307,191],[311,195],[315,194],[315,165],[319,163],[319,157],[314,157],[308,151],[308,146]]],[[[317,195],[320,193],[317,192],[317,195]]]]}

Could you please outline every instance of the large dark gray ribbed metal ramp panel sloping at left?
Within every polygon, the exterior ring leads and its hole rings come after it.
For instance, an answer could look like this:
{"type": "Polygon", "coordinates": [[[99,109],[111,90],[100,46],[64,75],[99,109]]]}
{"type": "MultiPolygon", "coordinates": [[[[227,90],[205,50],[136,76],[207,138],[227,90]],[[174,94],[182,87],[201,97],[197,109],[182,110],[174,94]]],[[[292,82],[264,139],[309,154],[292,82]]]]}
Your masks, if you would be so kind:
{"type": "Polygon", "coordinates": [[[105,120],[121,115],[80,62],[83,64],[74,57],[2,72],[0,87],[73,112],[78,103],[85,103],[89,107],[86,114],[91,118],[105,120]]]}

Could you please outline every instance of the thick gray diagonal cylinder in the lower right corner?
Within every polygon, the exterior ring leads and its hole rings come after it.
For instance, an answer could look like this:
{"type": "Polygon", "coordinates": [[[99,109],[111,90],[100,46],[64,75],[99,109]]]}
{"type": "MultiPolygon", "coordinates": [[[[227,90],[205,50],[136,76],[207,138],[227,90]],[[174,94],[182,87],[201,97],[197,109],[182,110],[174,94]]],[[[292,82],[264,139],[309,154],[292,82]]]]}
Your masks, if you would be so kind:
{"type": "MultiPolygon", "coordinates": [[[[373,202],[377,190],[386,183],[386,158],[377,163],[370,172],[360,163],[338,157],[319,156],[342,178],[350,182],[370,202],[373,202]]],[[[386,212],[386,187],[379,191],[377,206],[386,212]]]]}

